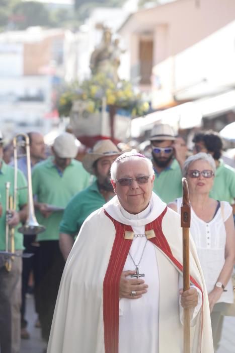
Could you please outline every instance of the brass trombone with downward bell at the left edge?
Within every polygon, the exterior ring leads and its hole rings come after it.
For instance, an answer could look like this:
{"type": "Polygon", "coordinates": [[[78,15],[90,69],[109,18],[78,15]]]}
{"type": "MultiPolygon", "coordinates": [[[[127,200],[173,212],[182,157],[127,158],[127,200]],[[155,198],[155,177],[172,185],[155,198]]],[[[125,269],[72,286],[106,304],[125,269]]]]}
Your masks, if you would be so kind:
{"type": "MultiPolygon", "coordinates": [[[[45,230],[43,225],[37,222],[34,211],[33,203],[33,192],[32,192],[32,177],[31,177],[31,162],[30,162],[30,147],[29,147],[29,136],[27,134],[17,134],[13,139],[14,147],[14,193],[13,197],[10,196],[10,182],[6,183],[6,239],[5,239],[5,251],[1,251],[0,254],[6,256],[6,269],[11,271],[12,261],[14,256],[19,256],[15,253],[15,228],[8,224],[9,217],[11,216],[11,211],[16,210],[17,206],[17,193],[19,190],[28,189],[28,215],[27,220],[24,225],[18,228],[20,233],[25,235],[38,234],[45,230]],[[21,138],[21,140],[19,140],[21,138]],[[18,147],[23,147],[25,149],[25,154],[18,155],[18,147]],[[18,179],[18,159],[26,156],[27,161],[27,178],[28,185],[23,188],[17,187],[18,179]]],[[[32,254],[24,253],[22,257],[30,257],[32,254]]]]}

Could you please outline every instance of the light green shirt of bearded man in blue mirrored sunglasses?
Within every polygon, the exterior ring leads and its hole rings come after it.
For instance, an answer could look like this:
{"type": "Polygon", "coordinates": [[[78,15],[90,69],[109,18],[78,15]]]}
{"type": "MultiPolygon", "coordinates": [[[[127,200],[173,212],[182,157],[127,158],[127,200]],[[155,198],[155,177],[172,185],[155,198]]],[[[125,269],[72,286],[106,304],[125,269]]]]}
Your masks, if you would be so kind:
{"type": "Polygon", "coordinates": [[[153,191],[167,204],[182,197],[182,171],[176,159],[160,174],[155,172],[153,191]]]}

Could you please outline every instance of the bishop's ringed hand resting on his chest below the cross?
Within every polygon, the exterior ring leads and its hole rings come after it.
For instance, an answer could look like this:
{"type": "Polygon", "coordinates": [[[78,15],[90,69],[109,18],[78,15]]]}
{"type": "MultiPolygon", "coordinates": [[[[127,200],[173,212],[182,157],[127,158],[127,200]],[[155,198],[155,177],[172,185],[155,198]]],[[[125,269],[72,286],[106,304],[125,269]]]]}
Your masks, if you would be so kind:
{"type": "Polygon", "coordinates": [[[123,271],[119,284],[119,298],[138,299],[147,292],[148,285],[141,278],[127,278],[136,271],[123,271]]]}

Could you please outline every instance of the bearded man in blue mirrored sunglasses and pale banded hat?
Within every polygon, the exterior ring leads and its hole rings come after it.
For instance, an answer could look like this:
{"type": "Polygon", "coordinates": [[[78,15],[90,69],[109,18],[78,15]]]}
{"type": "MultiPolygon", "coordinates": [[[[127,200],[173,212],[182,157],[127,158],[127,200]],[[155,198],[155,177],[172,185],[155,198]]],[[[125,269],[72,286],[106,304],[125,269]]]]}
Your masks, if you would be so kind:
{"type": "Polygon", "coordinates": [[[166,203],[182,196],[182,171],[187,147],[170,125],[158,124],[150,136],[155,180],[153,191],[166,203]]]}

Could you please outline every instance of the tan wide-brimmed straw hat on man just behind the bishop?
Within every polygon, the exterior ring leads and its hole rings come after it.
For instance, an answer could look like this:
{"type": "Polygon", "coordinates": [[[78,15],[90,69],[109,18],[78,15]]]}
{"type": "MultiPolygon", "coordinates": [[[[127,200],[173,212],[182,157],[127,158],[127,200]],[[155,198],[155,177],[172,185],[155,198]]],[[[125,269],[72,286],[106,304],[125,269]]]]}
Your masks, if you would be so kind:
{"type": "Polygon", "coordinates": [[[111,140],[100,140],[91,151],[85,154],[82,163],[90,174],[94,174],[93,165],[95,161],[105,156],[118,156],[122,153],[111,140]]]}

